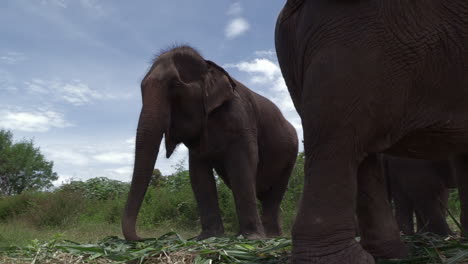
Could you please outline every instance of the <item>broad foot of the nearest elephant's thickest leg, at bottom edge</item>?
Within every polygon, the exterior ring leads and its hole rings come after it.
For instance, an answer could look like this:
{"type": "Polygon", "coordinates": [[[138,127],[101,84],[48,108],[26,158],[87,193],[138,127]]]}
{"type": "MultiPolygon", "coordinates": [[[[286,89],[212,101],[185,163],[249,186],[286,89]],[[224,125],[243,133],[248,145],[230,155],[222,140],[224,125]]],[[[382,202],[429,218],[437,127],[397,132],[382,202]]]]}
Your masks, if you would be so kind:
{"type": "MultiPolygon", "coordinates": [[[[324,245],[326,247],[326,245],[324,245]]],[[[338,252],[318,256],[311,248],[294,246],[291,257],[293,264],[375,264],[374,258],[362,249],[355,240],[338,252]]]]}

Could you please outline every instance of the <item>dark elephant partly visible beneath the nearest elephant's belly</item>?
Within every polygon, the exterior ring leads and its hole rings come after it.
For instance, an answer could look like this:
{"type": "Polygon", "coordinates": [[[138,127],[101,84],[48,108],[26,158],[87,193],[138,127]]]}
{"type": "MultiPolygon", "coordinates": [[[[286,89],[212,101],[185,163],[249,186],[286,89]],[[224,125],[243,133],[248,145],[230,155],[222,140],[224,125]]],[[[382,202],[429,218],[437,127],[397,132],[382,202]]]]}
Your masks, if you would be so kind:
{"type": "Polygon", "coordinates": [[[440,236],[452,234],[447,221],[449,188],[456,188],[455,171],[449,160],[421,160],[386,156],[385,175],[395,217],[404,234],[418,232],[440,236]]]}

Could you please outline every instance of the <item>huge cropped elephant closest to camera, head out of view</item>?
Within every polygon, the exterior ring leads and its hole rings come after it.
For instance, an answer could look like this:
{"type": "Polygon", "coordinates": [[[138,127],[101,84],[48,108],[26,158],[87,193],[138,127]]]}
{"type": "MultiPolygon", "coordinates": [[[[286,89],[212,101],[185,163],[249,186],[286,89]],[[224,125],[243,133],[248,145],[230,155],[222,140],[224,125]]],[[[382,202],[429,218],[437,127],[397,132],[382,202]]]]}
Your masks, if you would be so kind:
{"type": "Polygon", "coordinates": [[[287,0],[275,48],[305,151],[292,263],[407,255],[378,155],[468,151],[467,29],[466,0],[287,0]]]}

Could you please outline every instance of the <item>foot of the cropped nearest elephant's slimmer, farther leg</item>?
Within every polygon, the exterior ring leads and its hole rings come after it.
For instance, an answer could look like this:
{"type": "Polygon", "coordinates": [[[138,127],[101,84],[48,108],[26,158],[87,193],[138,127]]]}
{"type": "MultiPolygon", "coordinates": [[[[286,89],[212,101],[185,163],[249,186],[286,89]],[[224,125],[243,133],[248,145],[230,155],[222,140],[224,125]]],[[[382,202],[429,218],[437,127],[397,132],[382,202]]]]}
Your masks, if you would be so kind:
{"type": "Polygon", "coordinates": [[[361,242],[362,247],[376,259],[401,259],[409,254],[408,247],[401,240],[377,243],[361,242]]]}

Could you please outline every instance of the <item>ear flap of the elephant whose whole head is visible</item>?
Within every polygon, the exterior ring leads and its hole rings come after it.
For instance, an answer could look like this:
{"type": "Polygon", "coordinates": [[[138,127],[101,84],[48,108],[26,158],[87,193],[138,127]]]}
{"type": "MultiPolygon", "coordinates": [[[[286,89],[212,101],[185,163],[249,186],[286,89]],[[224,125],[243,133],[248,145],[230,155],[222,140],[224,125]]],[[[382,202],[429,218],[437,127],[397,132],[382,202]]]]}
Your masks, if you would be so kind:
{"type": "Polygon", "coordinates": [[[204,100],[206,113],[210,113],[234,97],[236,83],[222,67],[209,60],[205,62],[208,65],[208,74],[205,80],[204,100]]]}

